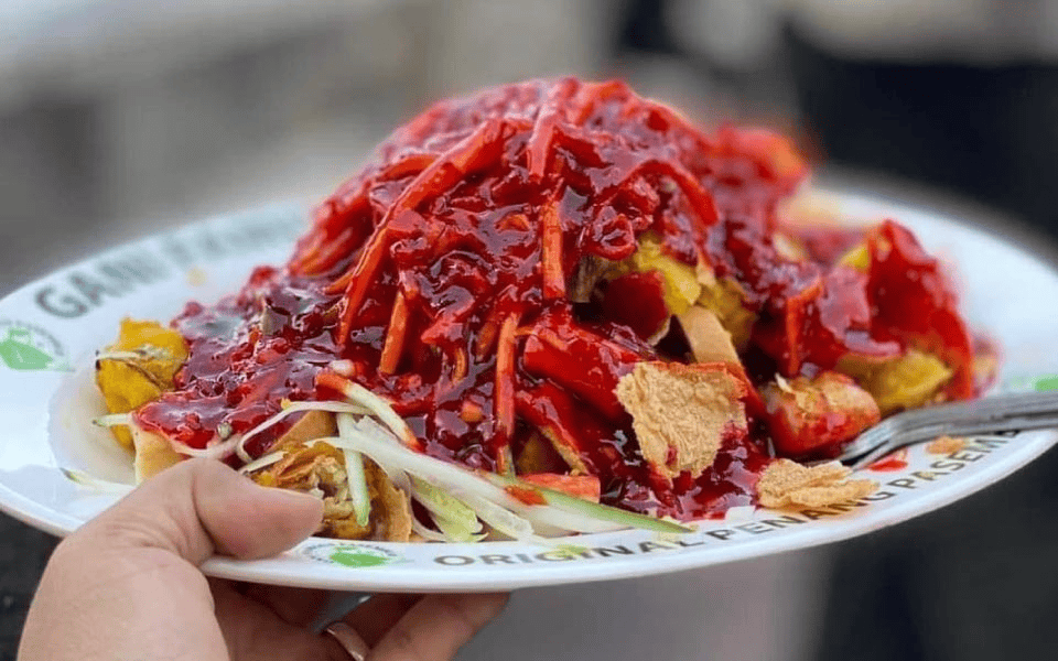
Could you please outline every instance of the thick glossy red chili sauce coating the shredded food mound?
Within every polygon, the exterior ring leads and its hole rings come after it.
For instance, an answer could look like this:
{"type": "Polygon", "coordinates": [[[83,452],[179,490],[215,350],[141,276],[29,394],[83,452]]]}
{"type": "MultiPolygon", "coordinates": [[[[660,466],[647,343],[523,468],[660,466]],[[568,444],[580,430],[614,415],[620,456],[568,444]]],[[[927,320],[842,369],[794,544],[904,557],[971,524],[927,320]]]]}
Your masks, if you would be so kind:
{"type": "Polygon", "coordinates": [[[905,229],[813,230],[803,242],[821,248],[800,261],[776,249],[776,205],[806,174],[782,138],[702,133],[620,83],[529,82],[442,101],[319,207],[284,269],[258,269],[217,305],[188,304],[174,322],[191,348],[177,388],[138,421],[204,447],[283,399],[337,398],[316,377],[343,359],[432,456],[508,470],[543,429],[600,477],[604,502],[681,519],[748,505],[771,460],[762,421],[727,438],[704,475],[669,483],[616,400],[635,362],[680,353],[644,339],[668,314],[657,277],[615,281],[602,303],[571,297],[593,260],[628,258],[651,231],[670,257],[745,291],[759,315],[755,379],[914,345],[956,370],[950,397],[971,395],[954,295],[905,229]],[[833,266],[835,242],[864,238],[867,272],[833,266]]]}

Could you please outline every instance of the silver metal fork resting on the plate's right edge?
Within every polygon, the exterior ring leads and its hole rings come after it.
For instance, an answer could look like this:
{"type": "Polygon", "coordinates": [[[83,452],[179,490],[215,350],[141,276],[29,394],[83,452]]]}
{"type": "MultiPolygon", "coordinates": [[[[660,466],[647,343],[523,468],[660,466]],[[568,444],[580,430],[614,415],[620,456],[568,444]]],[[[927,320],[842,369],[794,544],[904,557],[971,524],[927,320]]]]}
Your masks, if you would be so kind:
{"type": "Polygon", "coordinates": [[[845,446],[839,462],[853,469],[940,436],[972,436],[1058,427],[1058,391],[998,394],[938,404],[887,418],[845,446]]]}

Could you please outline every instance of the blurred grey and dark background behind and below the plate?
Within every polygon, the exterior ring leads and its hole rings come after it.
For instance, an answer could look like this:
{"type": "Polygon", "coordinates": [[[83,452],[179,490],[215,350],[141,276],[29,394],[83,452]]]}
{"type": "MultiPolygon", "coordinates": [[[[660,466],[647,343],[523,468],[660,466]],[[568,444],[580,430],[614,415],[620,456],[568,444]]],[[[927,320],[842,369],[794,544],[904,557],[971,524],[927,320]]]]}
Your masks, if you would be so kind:
{"type": "MultiPolygon", "coordinates": [[[[568,73],[777,127],[831,185],[1058,254],[1056,0],[0,0],[0,294],[172,224],[320,198],[427,102],[568,73]]],[[[1056,469],[698,575],[689,621],[722,659],[1049,658],[1056,469]]],[[[0,660],[52,545],[0,517],[0,660]]]]}

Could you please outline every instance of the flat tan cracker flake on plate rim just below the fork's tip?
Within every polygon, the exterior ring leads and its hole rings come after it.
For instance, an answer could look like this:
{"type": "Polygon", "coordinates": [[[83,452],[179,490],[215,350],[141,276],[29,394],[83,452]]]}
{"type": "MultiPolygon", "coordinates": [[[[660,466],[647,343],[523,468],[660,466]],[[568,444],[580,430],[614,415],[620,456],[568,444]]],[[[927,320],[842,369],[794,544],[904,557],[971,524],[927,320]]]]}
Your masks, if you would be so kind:
{"type": "Polygon", "coordinates": [[[870,479],[849,479],[851,473],[838,462],[802,466],[790,459],[776,459],[760,476],[757,496],[762,506],[775,509],[825,507],[863,498],[878,488],[870,479]]]}

